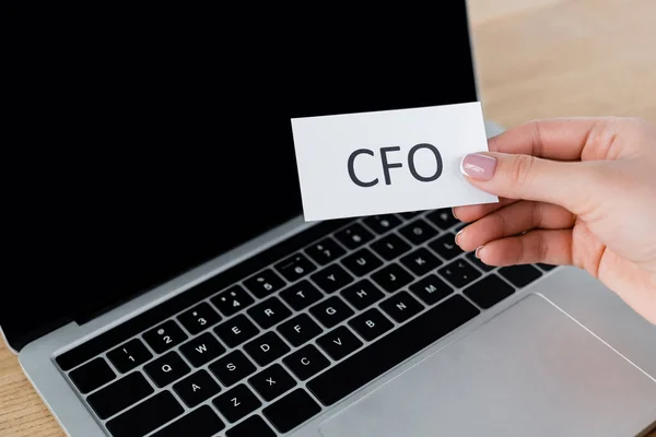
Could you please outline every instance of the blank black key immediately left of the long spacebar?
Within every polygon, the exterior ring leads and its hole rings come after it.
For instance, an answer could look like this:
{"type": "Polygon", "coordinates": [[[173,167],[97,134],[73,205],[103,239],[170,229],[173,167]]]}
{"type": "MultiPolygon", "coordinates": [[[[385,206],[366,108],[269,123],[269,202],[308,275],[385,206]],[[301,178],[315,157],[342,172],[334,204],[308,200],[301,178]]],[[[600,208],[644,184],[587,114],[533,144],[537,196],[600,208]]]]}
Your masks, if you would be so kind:
{"type": "Polygon", "coordinates": [[[296,389],[263,409],[262,413],[276,429],[288,433],[320,411],[319,404],[305,390],[296,389]]]}

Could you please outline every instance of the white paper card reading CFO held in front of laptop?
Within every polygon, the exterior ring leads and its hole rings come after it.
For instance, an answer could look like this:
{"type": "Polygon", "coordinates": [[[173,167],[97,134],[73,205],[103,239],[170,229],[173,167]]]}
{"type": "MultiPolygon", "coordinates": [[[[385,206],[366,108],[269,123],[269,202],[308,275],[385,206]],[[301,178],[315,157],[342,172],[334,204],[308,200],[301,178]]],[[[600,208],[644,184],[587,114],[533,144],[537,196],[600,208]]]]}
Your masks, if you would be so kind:
{"type": "Polygon", "coordinates": [[[460,173],[488,150],[479,102],[291,121],[306,221],[499,201],[460,173]]]}

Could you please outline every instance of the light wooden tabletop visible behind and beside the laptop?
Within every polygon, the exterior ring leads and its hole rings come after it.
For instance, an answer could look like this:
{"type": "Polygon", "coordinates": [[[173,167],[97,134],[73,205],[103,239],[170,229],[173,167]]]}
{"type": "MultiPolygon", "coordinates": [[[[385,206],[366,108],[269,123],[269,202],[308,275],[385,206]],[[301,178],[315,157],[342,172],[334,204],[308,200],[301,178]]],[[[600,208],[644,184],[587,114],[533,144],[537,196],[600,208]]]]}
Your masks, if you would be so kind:
{"type": "MultiPolygon", "coordinates": [[[[506,128],[578,115],[656,121],[655,17],[656,0],[470,0],[485,117],[506,128]]],[[[63,436],[1,340],[0,436],[63,436]]]]}

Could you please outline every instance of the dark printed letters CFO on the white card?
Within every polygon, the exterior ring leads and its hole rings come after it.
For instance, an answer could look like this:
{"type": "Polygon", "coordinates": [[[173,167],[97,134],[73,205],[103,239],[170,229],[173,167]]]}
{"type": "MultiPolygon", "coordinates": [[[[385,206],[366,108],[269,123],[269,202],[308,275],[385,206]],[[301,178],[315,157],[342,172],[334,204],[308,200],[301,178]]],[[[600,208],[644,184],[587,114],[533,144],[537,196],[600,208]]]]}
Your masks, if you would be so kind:
{"type": "MultiPolygon", "coordinates": [[[[380,147],[379,149],[380,166],[383,167],[383,175],[385,176],[385,185],[391,185],[391,176],[389,174],[389,169],[390,168],[401,168],[403,166],[401,163],[390,163],[387,158],[387,153],[399,152],[400,150],[401,150],[401,147],[399,147],[399,146],[380,147]]],[[[351,153],[351,155],[349,156],[349,162],[347,164],[348,168],[349,168],[349,176],[351,177],[351,180],[353,181],[353,184],[355,184],[359,187],[363,187],[363,188],[373,187],[378,184],[378,178],[374,178],[373,180],[362,180],[358,177],[358,175],[355,175],[355,168],[354,168],[355,158],[366,160],[365,156],[360,157],[360,155],[375,156],[374,152],[370,149],[358,149],[356,151],[351,153]]],[[[440,154],[440,151],[433,144],[429,144],[429,143],[415,144],[408,152],[408,169],[410,170],[410,174],[412,175],[412,177],[414,179],[419,180],[420,182],[431,182],[431,181],[437,179],[440,176],[442,176],[442,165],[443,165],[442,164],[442,154],[440,154]],[[417,167],[414,165],[414,155],[421,149],[431,151],[433,156],[435,157],[435,163],[437,164],[437,166],[436,166],[435,173],[432,175],[420,175],[417,172],[417,167]]]]}

